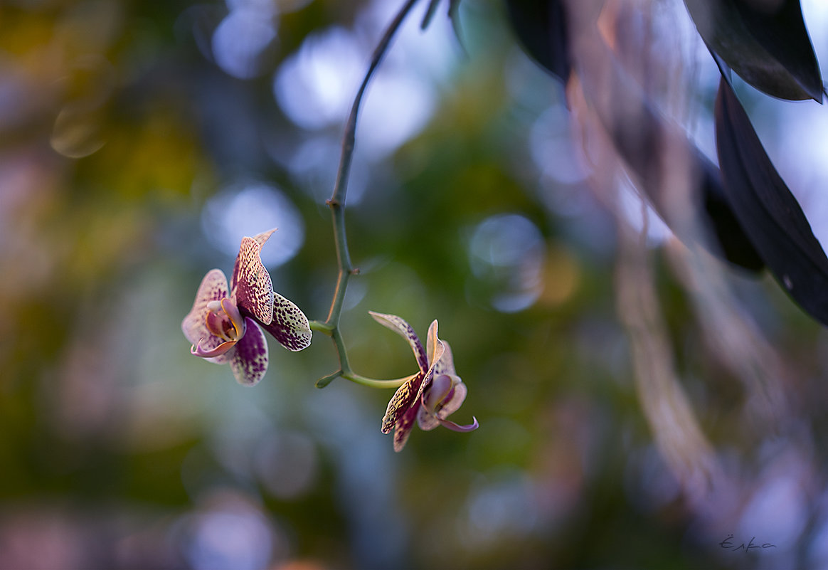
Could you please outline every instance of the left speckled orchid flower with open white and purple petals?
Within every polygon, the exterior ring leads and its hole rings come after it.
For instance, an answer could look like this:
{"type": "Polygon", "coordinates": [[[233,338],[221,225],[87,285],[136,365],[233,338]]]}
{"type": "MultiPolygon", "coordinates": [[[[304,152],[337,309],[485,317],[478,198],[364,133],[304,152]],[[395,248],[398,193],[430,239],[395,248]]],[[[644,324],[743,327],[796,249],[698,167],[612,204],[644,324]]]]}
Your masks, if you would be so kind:
{"type": "Polygon", "coordinates": [[[243,238],[230,287],[220,269],[201,280],[193,308],[181,322],[190,353],[216,364],[230,364],[238,384],[253,386],[267,372],[267,341],[262,328],[287,350],[310,345],[307,317],[273,291],[260,253],[276,229],[243,238]]]}

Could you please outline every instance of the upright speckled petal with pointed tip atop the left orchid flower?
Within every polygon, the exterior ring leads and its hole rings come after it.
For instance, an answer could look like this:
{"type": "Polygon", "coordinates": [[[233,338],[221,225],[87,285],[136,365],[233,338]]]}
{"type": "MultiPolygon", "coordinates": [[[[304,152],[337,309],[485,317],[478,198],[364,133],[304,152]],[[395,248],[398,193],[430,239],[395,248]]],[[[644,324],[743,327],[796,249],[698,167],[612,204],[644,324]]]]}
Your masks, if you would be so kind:
{"type": "Polygon", "coordinates": [[[269,325],[273,318],[273,283],[262,265],[261,250],[262,245],[256,238],[242,239],[230,281],[230,297],[239,309],[269,325]]]}

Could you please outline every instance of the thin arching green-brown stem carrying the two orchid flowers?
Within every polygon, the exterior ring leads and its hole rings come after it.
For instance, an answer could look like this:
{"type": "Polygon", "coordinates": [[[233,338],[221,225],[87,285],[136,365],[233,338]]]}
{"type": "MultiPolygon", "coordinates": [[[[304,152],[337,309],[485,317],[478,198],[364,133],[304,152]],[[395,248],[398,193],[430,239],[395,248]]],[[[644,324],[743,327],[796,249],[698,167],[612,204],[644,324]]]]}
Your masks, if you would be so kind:
{"type": "Polygon", "coordinates": [[[334,374],[329,374],[316,382],[317,388],[324,388],[335,379],[342,377],[349,379],[357,384],[366,386],[373,386],[375,388],[391,388],[398,386],[405,381],[405,379],[396,380],[375,380],[365,378],[359,374],[354,374],[348,362],[348,352],[345,349],[345,344],[342,339],[342,334],[339,332],[339,316],[342,315],[342,306],[345,300],[345,292],[348,290],[349,278],[357,273],[354,266],[351,264],[351,256],[348,250],[348,235],[345,233],[345,197],[348,192],[348,178],[351,171],[351,162],[354,158],[354,144],[356,142],[357,130],[357,115],[359,114],[359,106],[362,104],[365,89],[368,87],[368,82],[373,76],[373,72],[377,69],[379,63],[383,60],[383,56],[388,51],[388,46],[391,45],[392,38],[397,34],[400,25],[405,21],[408,12],[411,12],[412,7],[417,0],[407,0],[403,4],[397,16],[394,17],[388,29],[383,34],[383,38],[379,41],[376,49],[373,51],[371,63],[368,65],[368,71],[365,74],[362,85],[359,86],[359,91],[354,98],[354,104],[351,106],[351,113],[348,117],[348,122],[345,123],[345,132],[342,137],[342,155],[339,159],[339,171],[336,175],[336,183],[334,185],[334,193],[327,200],[330,207],[330,215],[334,225],[334,245],[336,248],[336,262],[339,266],[339,275],[336,280],[336,288],[334,290],[334,299],[330,303],[330,311],[325,322],[313,321],[311,329],[320,331],[331,337],[334,341],[336,353],[339,355],[339,370],[334,374]]]}

